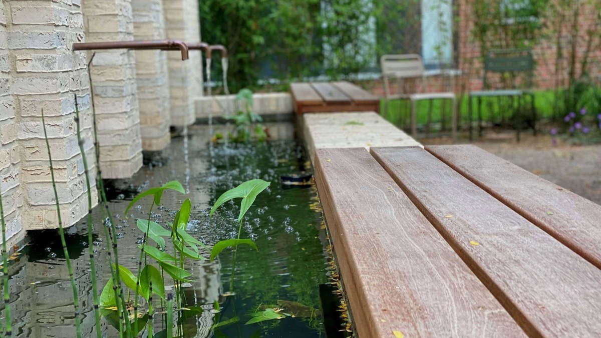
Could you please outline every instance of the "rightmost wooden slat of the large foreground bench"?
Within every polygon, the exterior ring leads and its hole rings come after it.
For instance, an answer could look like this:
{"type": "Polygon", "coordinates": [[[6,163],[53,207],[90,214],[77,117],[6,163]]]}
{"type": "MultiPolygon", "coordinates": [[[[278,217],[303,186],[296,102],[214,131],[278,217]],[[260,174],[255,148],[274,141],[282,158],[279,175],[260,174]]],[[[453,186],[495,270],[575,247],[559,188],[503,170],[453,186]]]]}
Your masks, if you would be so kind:
{"type": "Polygon", "coordinates": [[[601,205],[477,146],[429,146],[426,149],[601,268],[601,205]]]}

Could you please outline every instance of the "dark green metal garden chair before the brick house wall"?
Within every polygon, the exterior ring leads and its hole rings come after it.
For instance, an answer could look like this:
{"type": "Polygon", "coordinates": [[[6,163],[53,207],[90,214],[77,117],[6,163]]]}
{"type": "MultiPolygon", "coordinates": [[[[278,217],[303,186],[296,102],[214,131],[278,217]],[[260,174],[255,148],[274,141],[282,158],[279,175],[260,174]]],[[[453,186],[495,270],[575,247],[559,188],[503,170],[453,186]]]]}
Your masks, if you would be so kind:
{"type": "MultiPolygon", "coordinates": [[[[534,92],[532,91],[532,77],[534,72],[534,59],[532,58],[531,49],[497,49],[490,50],[484,58],[484,75],[482,86],[484,90],[469,92],[469,139],[472,139],[472,98],[477,98],[478,106],[478,136],[482,136],[482,100],[484,97],[511,97],[511,106],[513,107],[514,98],[517,97],[517,110],[522,108],[523,95],[531,97],[532,110],[532,129],[536,135],[536,110],[534,108],[534,92]],[[500,88],[488,89],[491,87],[489,81],[490,73],[504,74],[525,73],[525,79],[520,83],[523,89],[517,88],[500,88]]],[[[502,81],[501,81],[502,83],[502,81]]],[[[504,116],[501,112],[501,116],[504,116]]],[[[517,130],[517,140],[520,139],[520,122],[516,116],[513,116],[514,125],[517,130]]]]}

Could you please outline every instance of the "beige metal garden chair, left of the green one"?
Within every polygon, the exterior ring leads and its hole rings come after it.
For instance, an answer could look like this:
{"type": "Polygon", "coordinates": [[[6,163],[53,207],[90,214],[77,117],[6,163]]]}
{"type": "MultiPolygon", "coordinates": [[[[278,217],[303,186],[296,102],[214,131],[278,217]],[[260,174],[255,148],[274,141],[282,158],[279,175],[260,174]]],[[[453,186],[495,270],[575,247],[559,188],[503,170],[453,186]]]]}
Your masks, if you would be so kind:
{"type": "MultiPolygon", "coordinates": [[[[421,56],[417,54],[403,55],[383,55],[380,58],[380,66],[382,67],[382,80],[384,85],[384,111],[388,116],[388,101],[394,99],[409,99],[411,103],[411,133],[413,137],[417,137],[417,101],[443,99],[451,100],[451,135],[453,140],[457,138],[457,107],[456,96],[453,89],[453,76],[450,74],[451,91],[447,92],[427,92],[427,77],[424,74],[424,63],[421,56]],[[396,78],[399,87],[401,82],[406,79],[415,79],[419,81],[419,89],[412,93],[391,94],[389,80],[396,78]]],[[[444,106],[443,106],[444,107],[444,106]]],[[[445,112],[443,110],[443,116],[445,112]]]]}

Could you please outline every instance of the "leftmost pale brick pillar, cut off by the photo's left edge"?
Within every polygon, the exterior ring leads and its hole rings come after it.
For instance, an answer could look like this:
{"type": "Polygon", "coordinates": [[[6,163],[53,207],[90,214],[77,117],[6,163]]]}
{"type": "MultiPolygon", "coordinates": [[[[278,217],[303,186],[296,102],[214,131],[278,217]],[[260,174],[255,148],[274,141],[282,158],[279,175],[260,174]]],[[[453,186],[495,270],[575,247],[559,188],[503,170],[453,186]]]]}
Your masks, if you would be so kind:
{"type": "Polygon", "coordinates": [[[7,226],[7,242],[14,243],[24,237],[25,231],[21,222],[23,206],[19,175],[21,159],[17,145],[17,119],[9,86],[7,38],[4,2],[0,2],[0,195],[7,226]]]}

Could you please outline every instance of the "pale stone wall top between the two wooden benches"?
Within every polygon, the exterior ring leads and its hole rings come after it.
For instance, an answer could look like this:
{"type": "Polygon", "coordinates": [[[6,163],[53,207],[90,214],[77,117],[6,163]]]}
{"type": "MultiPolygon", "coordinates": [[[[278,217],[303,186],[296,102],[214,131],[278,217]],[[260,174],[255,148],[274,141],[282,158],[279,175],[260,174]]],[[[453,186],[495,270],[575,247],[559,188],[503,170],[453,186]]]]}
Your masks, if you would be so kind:
{"type": "Polygon", "coordinates": [[[320,148],[421,146],[375,112],[305,113],[297,116],[313,161],[320,148]]]}

